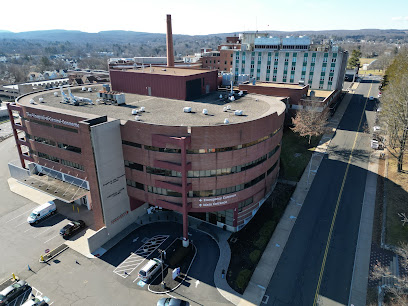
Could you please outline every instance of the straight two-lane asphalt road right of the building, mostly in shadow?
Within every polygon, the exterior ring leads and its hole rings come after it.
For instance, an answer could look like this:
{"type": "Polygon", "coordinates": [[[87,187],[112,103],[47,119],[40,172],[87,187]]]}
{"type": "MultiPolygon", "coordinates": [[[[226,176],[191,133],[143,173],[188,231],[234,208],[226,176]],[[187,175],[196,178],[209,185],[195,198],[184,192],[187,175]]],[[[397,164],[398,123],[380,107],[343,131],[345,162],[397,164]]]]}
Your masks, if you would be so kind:
{"type": "Polygon", "coordinates": [[[266,290],[268,305],[314,305],[321,297],[348,304],[371,153],[369,134],[356,131],[361,116],[360,131],[373,118],[375,102],[364,106],[378,83],[370,88],[371,81],[360,84],[340,122],[266,290]]]}

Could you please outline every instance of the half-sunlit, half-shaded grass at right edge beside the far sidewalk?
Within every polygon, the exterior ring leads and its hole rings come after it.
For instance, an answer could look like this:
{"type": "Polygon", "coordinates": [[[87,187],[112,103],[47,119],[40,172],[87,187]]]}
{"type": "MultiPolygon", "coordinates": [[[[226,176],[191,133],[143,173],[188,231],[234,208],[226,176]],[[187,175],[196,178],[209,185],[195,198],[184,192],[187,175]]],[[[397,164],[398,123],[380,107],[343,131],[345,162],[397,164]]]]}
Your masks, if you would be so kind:
{"type": "Polygon", "coordinates": [[[405,213],[408,217],[408,154],[405,155],[403,170],[397,172],[397,160],[388,154],[388,179],[385,182],[387,201],[386,237],[387,244],[398,246],[401,242],[408,242],[408,224],[402,226],[398,213],[405,213]]]}

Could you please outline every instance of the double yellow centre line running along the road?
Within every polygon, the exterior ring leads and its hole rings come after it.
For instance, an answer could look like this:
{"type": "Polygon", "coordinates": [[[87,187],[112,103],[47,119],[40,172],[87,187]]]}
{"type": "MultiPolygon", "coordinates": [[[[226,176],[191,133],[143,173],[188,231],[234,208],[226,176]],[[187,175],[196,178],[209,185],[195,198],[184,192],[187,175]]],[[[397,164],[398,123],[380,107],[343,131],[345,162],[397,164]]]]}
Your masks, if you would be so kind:
{"type": "Polygon", "coordinates": [[[322,266],[320,268],[319,281],[317,282],[317,288],[316,288],[316,293],[315,293],[315,297],[314,297],[314,301],[313,301],[313,306],[316,306],[316,303],[318,301],[320,285],[321,285],[321,282],[322,282],[324,268],[326,266],[327,254],[329,252],[329,246],[330,246],[331,236],[332,236],[332,233],[333,233],[334,223],[336,222],[337,211],[339,209],[340,200],[341,200],[341,197],[343,195],[343,189],[344,189],[344,185],[346,183],[348,170],[350,168],[351,159],[353,158],[353,151],[354,151],[354,148],[355,148],[356,143],[357,143],[357,137],[358,137],[358,134],[359,134],[359,131],[360,131],[361,122],[363,121],[363,116],[365,114],[365,110],[366,110],[366,107],[367,107],[368,97],[370,96],[370,92],[371,92],[372,87],[373,87],[373,83],[371,82],[370,90],[368,91],[368,95],[367,95],[367,98],[366,98],[366,101],[365,101],[365,104],[364,104],[364,107],[363,107],[363,111],[361,113],[360,122],[358,123],[356,136],[354,137],[354,143],[353,143],[353,146],[351,148],[350,157],[349,157],[349,160],[347,162],[346,172],[344,173],[343,182],[341,183],[340,193],[339,193],[339,196],[337,197],[336,208],[334,209],[334,214],[333,214],[332,222],[331,222],[331,225],[330,225],[329,236],[327,237],[326,249],[324,251],[323,262],[322,262],[322,266]]]}

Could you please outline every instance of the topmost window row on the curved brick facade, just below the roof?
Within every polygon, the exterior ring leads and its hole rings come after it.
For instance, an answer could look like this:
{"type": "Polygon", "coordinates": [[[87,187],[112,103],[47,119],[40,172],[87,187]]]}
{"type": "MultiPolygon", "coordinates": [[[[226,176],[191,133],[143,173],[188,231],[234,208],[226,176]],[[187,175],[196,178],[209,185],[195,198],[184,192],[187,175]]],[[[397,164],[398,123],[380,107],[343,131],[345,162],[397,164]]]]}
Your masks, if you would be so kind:
{"type": "MultiPolygon", "coordinates": [[[[205,153],[217,153],[217,152],[226,152],[226,151],[234,151],[234,150],[239,150],[239,149],[243,149],[243,148],[248,148],[251,147],[253,145],[256,145],[262,141],[265,141],[271,137],[273,137],[274,135],[276,135],[282,127],[276,129],[275,131],[273,131],[271,134],[264,136],[262,138],[259,138],[257,140],[248,142],[248,143],[244,143],[242,145],[236,145],[233,147],[224,147],[224,148],[215,148],[215,149],[193,149],[193,150],[187,150],[187,154],[205,154],[205,153]]],[[[132,146],[132,147],[136,147],[136,148],[141,148],[142,145],[139,143],[135,143],[135,142],[130,142],[127,140],[122,140],[122,144],[128,145],[128,146],[132,146]]],[[[181,153],[181,149],[171,149],[171,148],[159,148],[159,147],[155,147],[155,146],[148,146],[148,145],[144,145],[145,150],[149,150],[149,151],[156,151],[156,152],[164,152],[164,153],[181,153]]]]}

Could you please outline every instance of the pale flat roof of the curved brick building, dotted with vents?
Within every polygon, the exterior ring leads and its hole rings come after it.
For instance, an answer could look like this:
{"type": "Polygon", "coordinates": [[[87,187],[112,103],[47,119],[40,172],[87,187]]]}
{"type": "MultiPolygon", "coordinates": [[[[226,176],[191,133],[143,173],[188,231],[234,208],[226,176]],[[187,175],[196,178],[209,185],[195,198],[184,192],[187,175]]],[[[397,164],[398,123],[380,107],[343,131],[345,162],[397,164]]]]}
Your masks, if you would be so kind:
{"type": "MultiPolygon", "coordinates": [[[[86,88],[89,87],[92,87],[93,92],[81,91],[82,86],[74,87],[71,90],[75,96],[92,99],[95,103],[98,98],[97,91],[102,89],[102,85],[86,86],[86,88]]],[[[66,89],[65,93],[67,93],[66,89]]],[[[225,118],[228,118],[230,124],[234,124],[252,121],[273,112],[278,114],[285,112],[285,104],[281,102],[281,98],[247,94],[230,102],[224,100],[226,94],[225,91],[214,92],[194,101],[125,94],[126,104],[120,106],[106,104],[75,106],[62,103],[58,89],[21,97],[18,103],[39,110],[56,111],[67,115],[86,118],[108,116],[125,121],[134,121],[135,115],[132,115],[132,110],[140,110],[141,107],[145,107],[145,112],[138,114],[140,122],[168,126],[214,126],[224,124],[225,118]],[[54,92],[58,92],[58,97],[54,96],[54,92]],[[223,99],[219,98],[220,95],[223,95],[223,99]],[[39,102],[40,97],[44,99],[43,103],[39,102]],[[30,104],[31,99],[34,99],[35,104],[30,104]],[[227,105],[231,109],[224,112],[224,107],[227,105]],[[191,107],[192,112],[185,113],[184,107],[191,107]],[[203,109],[207,109],[207,115],[203,114],[203,109]],[[235,110],[243,110],[243,115],[235,116],[235,110]]]]}

